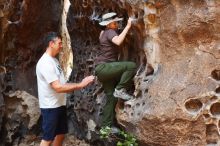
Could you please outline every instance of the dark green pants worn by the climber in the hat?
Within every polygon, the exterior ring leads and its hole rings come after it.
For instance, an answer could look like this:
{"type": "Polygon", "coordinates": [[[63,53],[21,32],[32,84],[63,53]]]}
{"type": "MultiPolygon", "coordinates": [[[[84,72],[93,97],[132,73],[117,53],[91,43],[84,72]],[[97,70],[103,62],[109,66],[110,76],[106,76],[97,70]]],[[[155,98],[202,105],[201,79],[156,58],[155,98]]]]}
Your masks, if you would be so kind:
{"type": "Polygon", "coordinates": [[[128,89],[135,75],[136,64],[134,62],[110,62],[99,64],[95,68],[95,74],[102,83],[107,96],[103,107],[101,126],[112,126],[115,121],[115,106],[117,98],[113,96],[116,89],[128,89]]]}

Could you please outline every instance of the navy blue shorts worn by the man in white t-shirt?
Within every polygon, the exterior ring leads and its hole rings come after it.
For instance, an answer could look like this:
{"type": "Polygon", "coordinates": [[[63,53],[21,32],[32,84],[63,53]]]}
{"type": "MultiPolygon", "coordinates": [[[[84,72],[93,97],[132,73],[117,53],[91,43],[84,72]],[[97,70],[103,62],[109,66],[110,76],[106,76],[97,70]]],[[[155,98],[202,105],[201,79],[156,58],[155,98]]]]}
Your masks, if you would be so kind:
{"type": "Polygon", "coordinates": [[[43,118],[43,140],[53,141],[56,135],[66,134],[68,132],[66,106],[41,108],[41,115],[43,118]]]}

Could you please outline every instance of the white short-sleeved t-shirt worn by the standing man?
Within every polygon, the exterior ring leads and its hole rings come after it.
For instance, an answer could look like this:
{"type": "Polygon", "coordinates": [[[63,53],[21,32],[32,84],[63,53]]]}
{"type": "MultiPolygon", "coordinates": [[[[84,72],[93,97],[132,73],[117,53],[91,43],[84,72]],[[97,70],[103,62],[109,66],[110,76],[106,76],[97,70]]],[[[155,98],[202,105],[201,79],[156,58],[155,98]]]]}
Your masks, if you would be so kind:
{"type": "Polygon", "coordinates": [[[50,85],[56,80],[61,84],[66,82],[59,61],[44,53],[37,63],[36,74],[40,108],[57,108],[66,105],[65,93],[57,93],[50,85]]]}

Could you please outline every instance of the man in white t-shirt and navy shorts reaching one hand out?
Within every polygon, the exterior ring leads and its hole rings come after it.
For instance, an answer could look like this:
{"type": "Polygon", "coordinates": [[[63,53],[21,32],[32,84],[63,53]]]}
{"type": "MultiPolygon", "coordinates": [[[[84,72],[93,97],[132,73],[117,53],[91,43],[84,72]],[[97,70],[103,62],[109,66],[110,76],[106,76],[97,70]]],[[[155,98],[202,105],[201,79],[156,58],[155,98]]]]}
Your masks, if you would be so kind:
{"type": "Polygon", "coordinates": [[[65,93],[86,87],[94,76],[85,77],[80,83],[66,83],[59,61],[55,56],[62,49],[61,37],[49,32],[44,40],[46,51],[37,63],[38,97],[43,118],[43,138],[40,146],[61,146],[67,133],[65,93]]]}

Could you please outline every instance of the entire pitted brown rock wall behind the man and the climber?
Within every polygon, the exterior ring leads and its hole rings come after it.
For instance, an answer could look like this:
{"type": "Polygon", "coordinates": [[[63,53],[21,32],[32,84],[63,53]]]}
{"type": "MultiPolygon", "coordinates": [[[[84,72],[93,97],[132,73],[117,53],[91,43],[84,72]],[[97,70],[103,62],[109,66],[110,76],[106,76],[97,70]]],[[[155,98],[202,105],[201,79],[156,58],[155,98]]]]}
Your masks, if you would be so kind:
{"type": "MultiPolygon", "coordinates": [[[[136,19],[121,45],[121,59],[138,64],[130,91],[136,98],[120,101],[116,108],[121,127],[144,146],[220,145],[218,0],[0,0],[0,7],[0,139],[4,142],[11,137],[7,142],[18,144],[18,137],[31,131],[28,125],[35,116],[28,116],[24,100],[11,101],[9,95],[37,97],[35,64],[44,52],[42,36],[47,31],[62,33],[65,49],[60,61],[69,81],[79,82],[94,73],[102,29],[98,21],[103,13],[114,11],[125,18],[122,28],[128,17],[136,19]],[[9,109],[13,109],[10,114],[9,109]],[[8,118],[18,111],[27,113],[25,122],[8,118]],[[8,123],[16,123],[12,135],[5,130],[8,123]]],[[[105,99],[97,81],[69,94],[69,132],[94,145],[105,99]]]]}

